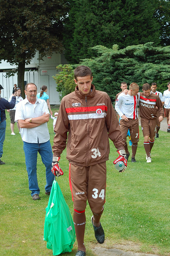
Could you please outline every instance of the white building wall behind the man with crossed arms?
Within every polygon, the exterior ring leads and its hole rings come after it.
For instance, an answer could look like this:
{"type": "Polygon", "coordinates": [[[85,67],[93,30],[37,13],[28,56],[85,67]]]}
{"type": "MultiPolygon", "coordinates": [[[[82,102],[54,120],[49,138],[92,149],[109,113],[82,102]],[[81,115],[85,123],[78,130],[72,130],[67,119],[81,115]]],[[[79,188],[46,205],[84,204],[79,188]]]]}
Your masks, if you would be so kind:
{"type": "MultiPolygon", "coordinates": [[[[52,78],[57,73],[56,66],[59,64],[66,64],[67,60],[64,57],[64,54],[54,53],[52,56],[45,56],[43,60],[38,60],[39,53],[36,52],[34,58],[32,59],[29,65],[26,65],[26,69],[33,69],[34,71],[29,70],[25,72],[24,81],[26,83],[32,82],[38,87],[38,92],[40,92],[41,87],[46,85],[48,88],[47,94],[49,95],[49,102],[51,105],[60,104],[59,92],[56,91],[56,82],[52,78]]],[[[4,87],[4,90],[1,92],[1,96],[9,99],[12,94],[12,89],[14,84],[17,84],[17,74],[10,76],[10,78],[5,78],[5,70],[10,70],[17,68],[16,65],[10,65],[10,63],[2,60],[0,63],[0,84],[4,87]]],[[[17,84],[19,87],[19,85],[17,84]]]]}

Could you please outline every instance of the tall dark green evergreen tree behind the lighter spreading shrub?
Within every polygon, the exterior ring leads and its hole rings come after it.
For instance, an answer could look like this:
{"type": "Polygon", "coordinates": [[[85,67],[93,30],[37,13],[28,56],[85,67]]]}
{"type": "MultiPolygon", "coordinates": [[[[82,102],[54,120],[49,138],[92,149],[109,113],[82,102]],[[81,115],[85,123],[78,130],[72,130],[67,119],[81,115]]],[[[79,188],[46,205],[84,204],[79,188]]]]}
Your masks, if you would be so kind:
{"type": "Polygon", "coordinates": [[[70,63],[90,58],[91,47],[119,48],[160,43],[160,24],[154,16],[158,0],[71,0],[64,46],[70,63]]]}

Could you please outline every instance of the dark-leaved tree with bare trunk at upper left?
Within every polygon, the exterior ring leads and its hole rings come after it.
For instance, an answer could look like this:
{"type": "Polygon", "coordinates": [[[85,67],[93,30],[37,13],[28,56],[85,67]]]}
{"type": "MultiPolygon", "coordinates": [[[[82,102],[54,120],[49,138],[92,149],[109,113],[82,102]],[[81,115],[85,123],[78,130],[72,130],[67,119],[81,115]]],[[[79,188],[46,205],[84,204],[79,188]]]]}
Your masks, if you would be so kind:
{"type": "Polygon", "coordinates": [[[24,96],[24,71],[36,51],[40,58],[61,52],[66,0],[0,0],[0,60],[18,66],[24,96]]]}

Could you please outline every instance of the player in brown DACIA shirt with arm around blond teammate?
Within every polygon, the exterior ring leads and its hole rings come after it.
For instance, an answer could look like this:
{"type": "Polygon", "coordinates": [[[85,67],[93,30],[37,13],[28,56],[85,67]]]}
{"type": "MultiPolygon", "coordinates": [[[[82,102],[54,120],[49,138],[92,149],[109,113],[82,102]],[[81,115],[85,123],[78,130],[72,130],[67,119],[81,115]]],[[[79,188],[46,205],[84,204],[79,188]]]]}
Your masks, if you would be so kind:
{"type": "Polygon", "coordinates": [[[146,162],[151,163],[150,152],[154,145],[154,137],[156,134],[157,109],[159,122],[162,122],[164,118],[164,110],[159,96],[150,92],[149,84],[143,84],[142,91],[143,92],[140,92],[139,102],[140,122],[144,136],[146,162]]]}

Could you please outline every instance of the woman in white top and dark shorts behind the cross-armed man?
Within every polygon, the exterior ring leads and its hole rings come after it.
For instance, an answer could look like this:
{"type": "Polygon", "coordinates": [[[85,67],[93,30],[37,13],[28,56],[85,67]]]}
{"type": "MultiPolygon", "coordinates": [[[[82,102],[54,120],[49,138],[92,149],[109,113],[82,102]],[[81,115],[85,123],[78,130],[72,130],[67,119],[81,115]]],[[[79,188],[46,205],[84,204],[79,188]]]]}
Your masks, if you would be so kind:
{"type": "MultiPolygon", "coordinates": [[[[10,110],[7,110],[9,113],[10,113],[10,119],[11,119],[11,135],[16,135],[14,133],[14,124],[15,124],[15,110],[16,110],[16,105],[18,104],[18,102],[20,102],[21,100],[23,100],[23,98],[21,97],[21,89],[20,88],[16,88],[15,89],[15,92],[16,92],[16,104],[14,106],[14,108],[10,109],[10,110]]],[[[9,98],[9,102],[12,100],[12,95],[10,96],[9,98]]],[[[18,126],[18,130],[19,130],[19,133],[20,133],[20,126],[17,122],[17,126],[18,126]]]]}

